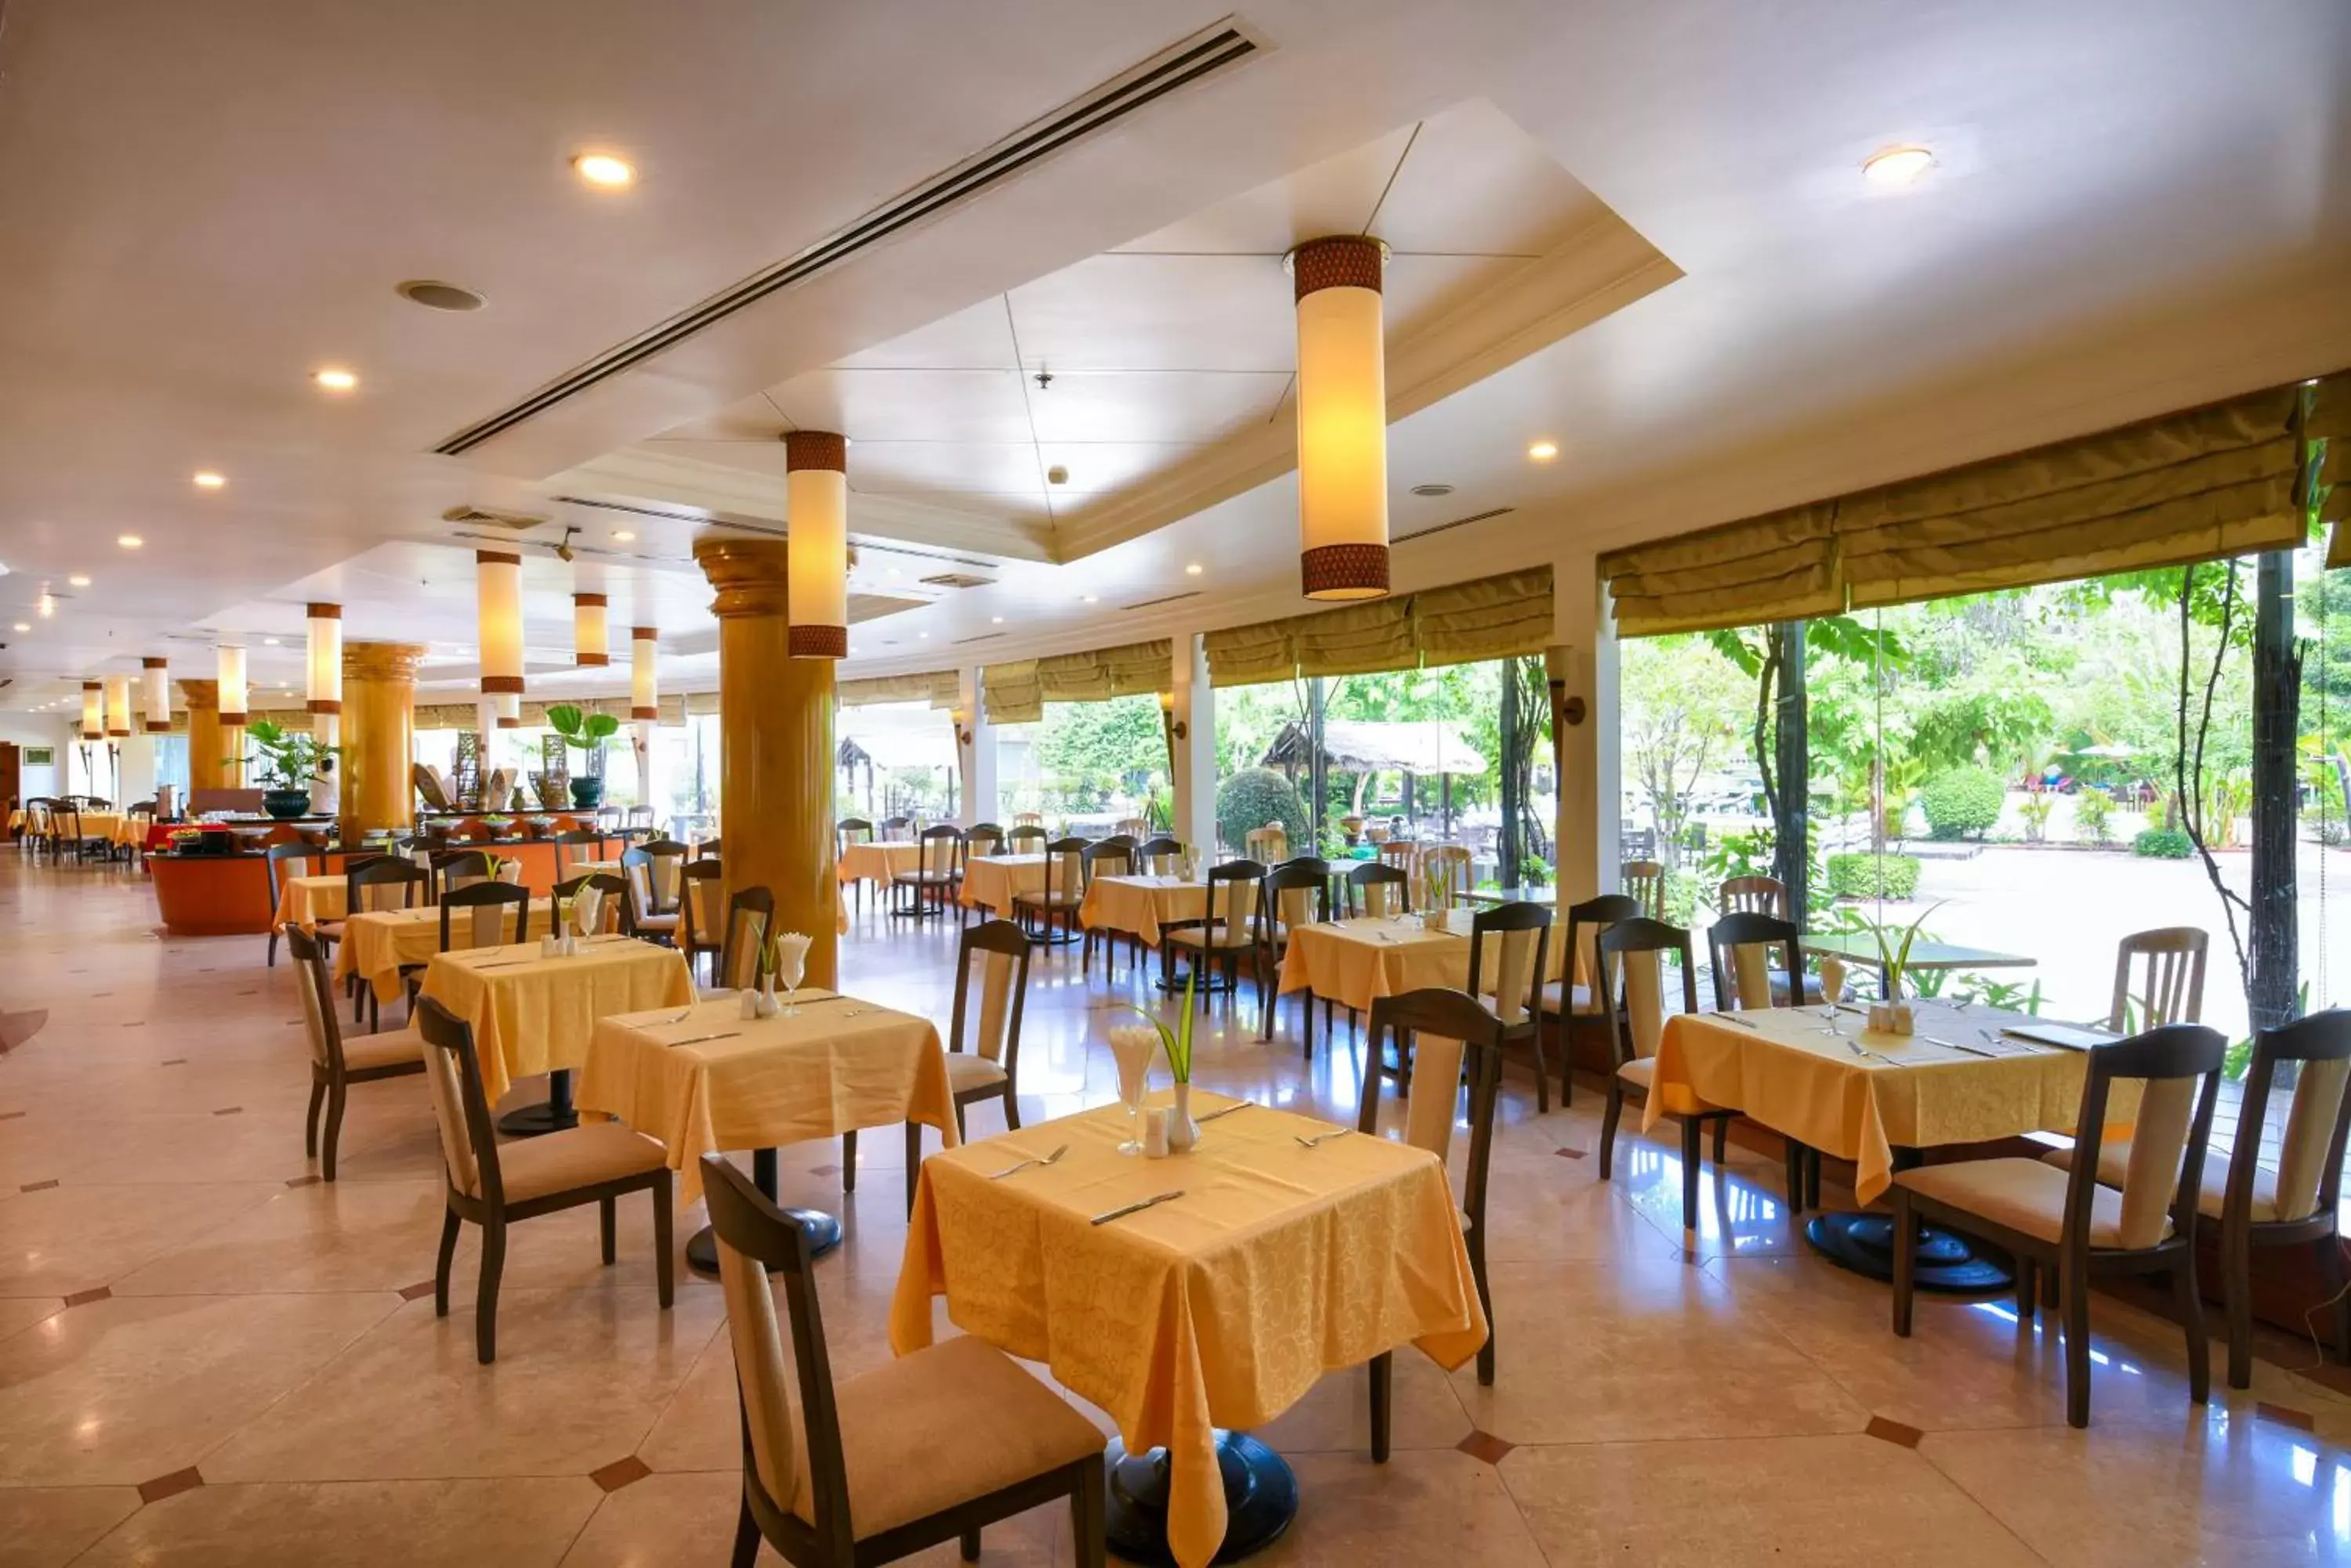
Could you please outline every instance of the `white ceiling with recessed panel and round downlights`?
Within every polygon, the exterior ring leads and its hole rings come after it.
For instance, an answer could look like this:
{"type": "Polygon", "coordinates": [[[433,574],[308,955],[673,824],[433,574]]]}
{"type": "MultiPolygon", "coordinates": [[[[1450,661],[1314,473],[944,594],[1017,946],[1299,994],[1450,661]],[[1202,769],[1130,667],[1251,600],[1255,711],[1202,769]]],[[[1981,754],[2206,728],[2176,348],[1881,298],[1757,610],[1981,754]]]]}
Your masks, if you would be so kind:
{"type": "MultiPolygon", "coordinates": [[[[1396,531],[1514,508],[1399,545],[1406,585],[2351,364],[2339,0],[1265,0],[1241,12],[1260,59],[468,458],[430,456],[1218,14],[9,7],[0,705],[141,654],[186,649],[202,675],[183,637],[292,635],[322,595],[353,635],[451,644],[463,679],[451,505],[642,557],[609,564],[614,592],[656,607],[665,679],[708,679],[691,538],[783,515],[788,423],[856,437],[865,588],[924,571],[891,543],[994,578],[860,628],[851,672],[1279,614],[1274,261],[1321,230],[1373,226],[1399,252],[1389,386],[1418,393],[1392,425],[1396,531]],[[1897,141],[1937,167],[1874,193],[1860,162],[1897,141]],[[583,190],[564,167],[583,148],[630,155],[637,188],[583,190]],[[418,310],[404,277],[489,308],[418,310]],[[1472,341],[1570,303],[1519,353],[1472,341]],[[320,395],[327,362],[360,390],[320,395]],[[1535,437],[1559,461],[1528,463],[1535,437]],[[1041,484],[1056,461],[1067,487],[1041,484]],[[197,468],[228,487],[195,491],[197,468]],[[1429,480],[1455,494],[1408,494],[1429,480]],[[146,548],[118,550],[125,531],[146,548]],[[78,571],[89,590],[68,590],[78,571]],[[1121,611],[1173,592],[1199,597],[1121,611]]],[[[571,574],[529,581],[536,682],[569,644],[571,574]]],[[[254,649],[263,679],[270,658],[254,649]]]]}

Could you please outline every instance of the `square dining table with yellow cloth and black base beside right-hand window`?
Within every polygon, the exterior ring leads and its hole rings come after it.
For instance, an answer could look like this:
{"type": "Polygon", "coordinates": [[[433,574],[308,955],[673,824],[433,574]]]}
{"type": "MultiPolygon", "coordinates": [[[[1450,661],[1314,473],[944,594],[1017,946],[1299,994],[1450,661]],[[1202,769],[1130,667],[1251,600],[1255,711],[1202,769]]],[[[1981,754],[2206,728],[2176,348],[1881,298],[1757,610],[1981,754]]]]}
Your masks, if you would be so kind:
{"type": "MultiPolygon", "coordinates": [[[[2022,1039],[2045,1023],[2027,1013],[1911,1001],[1911,1032],[1871,1030],[1855,1004],[1674,1013],[1641,1126],[1693,1100],[1735,1107],[1808,1150],[1853,1164],[1853,1197],[1874,1204],[1918,1150],[2074,1131],[2088,1056],[2022,1039]]],[[[2116,1084],[2109,1135],[2137,1114],[2132,1084],[2116,1084]]],[[[1893,1215],[1813,1215],[1808,1241],[1857,1274],[1893,1279],[1893,1215]]],[[[2001,1291],[2008,1267],[1956,1232],[1923,1227],[1918,1288],[2001,1291]]]]}

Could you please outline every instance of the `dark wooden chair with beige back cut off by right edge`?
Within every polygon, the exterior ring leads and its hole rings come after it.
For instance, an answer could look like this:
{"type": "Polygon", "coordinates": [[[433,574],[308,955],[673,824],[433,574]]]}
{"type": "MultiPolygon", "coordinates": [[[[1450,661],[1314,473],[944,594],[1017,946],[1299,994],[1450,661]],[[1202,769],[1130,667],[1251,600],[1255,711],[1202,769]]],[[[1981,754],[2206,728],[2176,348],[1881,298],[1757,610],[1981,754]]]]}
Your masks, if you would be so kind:
{"type": "MultiPolygon", "coordinates": [[[[2252,1065],[2236,1114],[2236,1145],[2226,1164],[2205,1159],[2196,1211],[2219,1225],[2222,1298],[2229,1305],[2229,1387],[2252,1385],[2252,1248],[2318,1248],[2318,1281],[2332,1300],[2335,1356],[2351,1361],[2351,1295],[2344,1293],[2342,1199],[2344,1138],[2351,1131],[2351,1013],[2330,1009],[2252,1037],[2252,1065]],[[2262,1131],[2278,1067],[2297,1063],[2285,1126],[2278,1135],[2278,1168],[2262,1164],[2262,1131]]],[[[2121,1187],[2130,1175],[2130,1140],[2102,1143],[2097,1180],[2121,1187]]],[[[2043,1154],[2059,1171],[2074,1168],[2074,1150],[2043,1154]]]]}

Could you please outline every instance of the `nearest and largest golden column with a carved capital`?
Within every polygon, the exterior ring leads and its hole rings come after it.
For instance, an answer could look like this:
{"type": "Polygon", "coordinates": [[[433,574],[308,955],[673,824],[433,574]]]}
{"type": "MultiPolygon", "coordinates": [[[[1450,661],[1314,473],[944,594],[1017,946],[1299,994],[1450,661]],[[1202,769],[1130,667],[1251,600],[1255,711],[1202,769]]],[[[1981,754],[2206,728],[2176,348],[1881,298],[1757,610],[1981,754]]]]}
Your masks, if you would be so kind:
{"type": "Polygon", "coordinates": [[[832,661],[792,658],[785,545],[703,538],[717,590],[719,809],[726,886],[776,893],[776,929],[809,933],[809,985],[839,983],[842,884],[832,842],[832,661]]]}

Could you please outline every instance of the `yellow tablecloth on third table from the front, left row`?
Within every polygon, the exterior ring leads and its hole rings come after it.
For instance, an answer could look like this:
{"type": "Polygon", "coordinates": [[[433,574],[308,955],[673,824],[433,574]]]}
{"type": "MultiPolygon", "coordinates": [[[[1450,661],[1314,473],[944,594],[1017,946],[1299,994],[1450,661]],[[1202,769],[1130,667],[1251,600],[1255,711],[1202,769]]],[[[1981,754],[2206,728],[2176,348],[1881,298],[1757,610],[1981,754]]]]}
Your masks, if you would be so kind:
{"type": "Polygon", "coordinates": [[[600,1020],[694,1001],[694,973],[675,947],[600,936],[569,959],[538,957],[538,943],[433,954],[426,994],[473,1025],[496,1103],[515,1079],[585,1065],[600,1020]]]}

